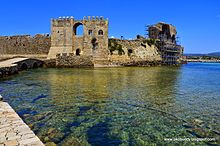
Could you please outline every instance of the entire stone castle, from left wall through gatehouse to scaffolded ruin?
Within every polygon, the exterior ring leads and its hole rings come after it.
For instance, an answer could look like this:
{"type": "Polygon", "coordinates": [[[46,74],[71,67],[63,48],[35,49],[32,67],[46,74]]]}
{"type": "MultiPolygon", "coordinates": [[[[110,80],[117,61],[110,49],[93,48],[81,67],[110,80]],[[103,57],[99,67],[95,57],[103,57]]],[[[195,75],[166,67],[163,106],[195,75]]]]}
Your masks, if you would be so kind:
{"type": "Polygon", "coordinates": [[[108,38],[108,19],[60,17],[51,20],[51,35],[2,36],[0,59],[14,57],[55,60],[56,66],[151,66],[179,64],[183,47],[176,43],[176,28],[158,23],[148,28],[149,38],[108,38]],[[77,28],[83,27],[78,35],[77,28]]]}

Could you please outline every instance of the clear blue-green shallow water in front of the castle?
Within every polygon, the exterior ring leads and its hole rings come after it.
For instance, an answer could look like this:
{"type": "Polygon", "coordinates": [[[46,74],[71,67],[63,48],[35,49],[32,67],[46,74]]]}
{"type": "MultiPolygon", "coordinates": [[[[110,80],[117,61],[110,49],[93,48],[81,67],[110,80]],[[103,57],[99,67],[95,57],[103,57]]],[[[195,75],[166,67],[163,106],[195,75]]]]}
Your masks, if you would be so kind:
{"type": "Polygon", "coordinates": [[[0,94],[47,144],[219,144],[220,64],[28,70],[0,94]]]}

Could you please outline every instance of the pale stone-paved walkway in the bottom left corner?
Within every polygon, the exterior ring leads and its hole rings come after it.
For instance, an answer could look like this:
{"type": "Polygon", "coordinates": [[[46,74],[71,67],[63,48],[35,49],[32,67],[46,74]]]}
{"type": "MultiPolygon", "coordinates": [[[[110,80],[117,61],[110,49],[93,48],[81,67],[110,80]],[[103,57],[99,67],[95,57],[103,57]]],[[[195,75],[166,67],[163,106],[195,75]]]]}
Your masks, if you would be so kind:
{"type": "Polygon", "coordinates": [[[11,106],[0,101],[0,146],[44,146],[11,106]]]}

